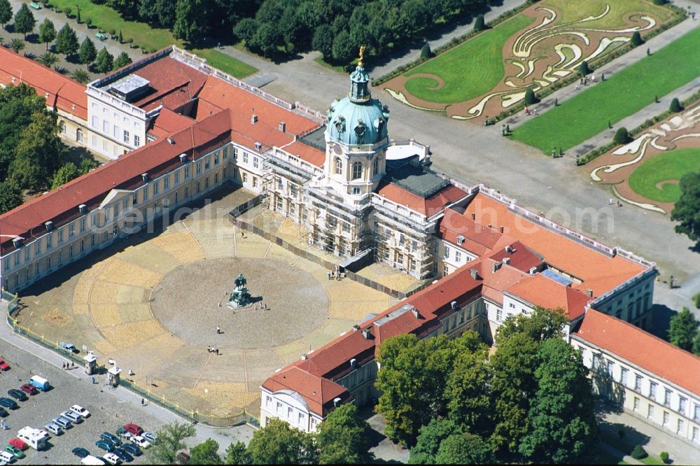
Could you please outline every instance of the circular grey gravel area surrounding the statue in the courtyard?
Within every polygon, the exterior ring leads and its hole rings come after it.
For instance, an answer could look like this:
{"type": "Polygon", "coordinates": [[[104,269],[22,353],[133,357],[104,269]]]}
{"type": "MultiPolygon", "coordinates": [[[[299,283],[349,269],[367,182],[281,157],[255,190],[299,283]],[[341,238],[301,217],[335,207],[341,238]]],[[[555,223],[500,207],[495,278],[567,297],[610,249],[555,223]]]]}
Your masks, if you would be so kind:
{"type": "Polygon", "coordinates": [[[327,318],[328,293],[305,271],[274,259],[224,257],[177,267],[155,285],[151,312],[169,332],[200,346],[272,348],[309,334],[327,318]],[[239,273],[254,305],[230,309],[228,292],[239,273]],[[221,306],[219,304],[221,303],[221,306]],[[216,334],[216,327],[222,334],[216,334]]]}

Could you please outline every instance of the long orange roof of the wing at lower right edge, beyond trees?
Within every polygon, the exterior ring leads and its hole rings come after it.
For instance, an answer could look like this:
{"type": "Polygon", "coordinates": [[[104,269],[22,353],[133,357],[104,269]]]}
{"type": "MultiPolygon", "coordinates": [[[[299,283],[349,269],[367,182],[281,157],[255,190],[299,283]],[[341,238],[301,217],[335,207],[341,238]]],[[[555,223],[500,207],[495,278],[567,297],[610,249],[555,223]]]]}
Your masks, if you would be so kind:
{"type": "Polygon", "coordinates": [[[700,396],[700,358],[668,341],[595,309],[573,334],[700,396]]]}

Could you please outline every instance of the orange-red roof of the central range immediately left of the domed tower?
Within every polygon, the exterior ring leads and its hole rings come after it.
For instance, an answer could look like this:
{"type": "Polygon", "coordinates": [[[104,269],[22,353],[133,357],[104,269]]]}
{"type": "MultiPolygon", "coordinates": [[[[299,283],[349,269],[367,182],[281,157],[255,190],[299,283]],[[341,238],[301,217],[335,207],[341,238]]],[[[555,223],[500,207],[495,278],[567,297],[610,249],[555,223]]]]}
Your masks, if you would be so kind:
{"type": "Polygon", "coordinates": [[[218,108],[231,108],[248,121],[253,113],[258,115],[258,122],[263,122],[271,127],[277,128],[279,122],[283,121],[286,124],[286,131],[291,134],[305,134],[312,129],[321,127],[321,124],[314,120],[261,99],[253,92],[231,85],[214,76],[207,77],[199,98],[200,101],[206,101],[218,108]]]}

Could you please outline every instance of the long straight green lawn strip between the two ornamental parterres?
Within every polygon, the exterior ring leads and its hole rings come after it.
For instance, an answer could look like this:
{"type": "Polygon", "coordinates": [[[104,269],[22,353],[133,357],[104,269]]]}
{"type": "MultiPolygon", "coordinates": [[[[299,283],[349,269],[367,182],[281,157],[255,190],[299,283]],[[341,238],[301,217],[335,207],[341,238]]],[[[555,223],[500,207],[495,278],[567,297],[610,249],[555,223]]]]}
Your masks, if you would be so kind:
{"type": "MultiPolygon", "coordinates": [[[[642,45],[644,46],[644,45],[642,45]]],[[[545,153],[567,150],[586,141],[654,101],[700,76],[700,29],[693,29],[639,62],[598,82],[512,133],[545,153]]],[[[628,128],[629,129],[629,128],[628,128]]]]}

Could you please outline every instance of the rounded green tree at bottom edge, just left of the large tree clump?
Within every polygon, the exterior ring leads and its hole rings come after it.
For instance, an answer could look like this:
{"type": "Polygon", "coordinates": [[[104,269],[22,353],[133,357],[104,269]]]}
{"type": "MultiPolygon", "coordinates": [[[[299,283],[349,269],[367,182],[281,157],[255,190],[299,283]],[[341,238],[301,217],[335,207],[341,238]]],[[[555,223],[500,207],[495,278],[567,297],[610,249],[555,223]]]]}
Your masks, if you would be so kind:
{"type": "Polygon", "coordinates": [[[318,426],[316,444],[322,465],[371,463],[372,428],[360,418],[357,407],[347,403],[335,408],[318,426]]]}

